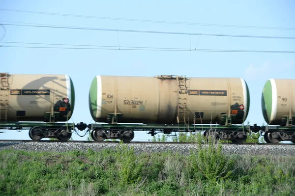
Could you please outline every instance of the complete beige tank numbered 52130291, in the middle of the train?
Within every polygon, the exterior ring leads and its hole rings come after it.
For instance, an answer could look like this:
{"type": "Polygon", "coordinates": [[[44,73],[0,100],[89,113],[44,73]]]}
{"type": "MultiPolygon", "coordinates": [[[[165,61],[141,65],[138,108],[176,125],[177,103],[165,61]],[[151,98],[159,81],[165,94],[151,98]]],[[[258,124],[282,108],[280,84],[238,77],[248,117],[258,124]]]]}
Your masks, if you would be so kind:
{"type": "Polygon", "coordinates": [[[93,120],[107,123],[241,124],[249,104],[241,78],[96,76],[89,90],[93,120]]]}

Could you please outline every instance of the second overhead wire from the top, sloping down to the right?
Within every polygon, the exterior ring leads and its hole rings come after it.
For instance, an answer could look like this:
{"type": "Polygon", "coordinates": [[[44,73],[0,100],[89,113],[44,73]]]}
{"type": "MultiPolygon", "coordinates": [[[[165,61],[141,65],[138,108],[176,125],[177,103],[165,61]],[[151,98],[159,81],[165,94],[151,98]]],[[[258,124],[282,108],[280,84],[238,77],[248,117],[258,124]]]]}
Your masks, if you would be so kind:
{"type": "Polygon", "coordinates": [[[71,26],[50,26],[45,24],[36,25],[17,25],[3,23],[7,26],[21,27],[37,27],[37,28],[64,28],[64,29],[79,29],[79,30],[100,30],[100,31],[119,31],[119,32],[135,32],[135,33],[157,33],[157,34],[178,34],[178,35],[203,35],[203,36],[220,36],[220,37],[245,37],[245,38],[267,38],[267,39],[295,39],[295,37],[277,37],[277,36],[260,36],[260,35],[233,35],[233,34],[213,34],[213,33],[185,33],[185,32],[169,32],[169,31],[148,31],[148,30],[128,30],[128,29],[110,29],[110,28],[86,28],[86,27],[71,27],[71,26]]]}

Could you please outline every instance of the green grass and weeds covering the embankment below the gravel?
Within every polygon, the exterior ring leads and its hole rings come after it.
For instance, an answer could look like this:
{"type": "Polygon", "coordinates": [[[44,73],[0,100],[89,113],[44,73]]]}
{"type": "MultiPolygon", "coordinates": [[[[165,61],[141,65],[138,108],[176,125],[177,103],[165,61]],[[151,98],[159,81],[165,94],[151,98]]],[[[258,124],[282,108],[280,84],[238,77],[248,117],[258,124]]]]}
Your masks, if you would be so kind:
{"type": "MultiPolygon", "coordinates": [[[[200,140],[199,140],[200,141],[200,140]]],[[[135,155],[132,146],[94,152],[0,151],[0,196],[289,196],[295,157],[225,155],[222,143],[135,155]]]]}

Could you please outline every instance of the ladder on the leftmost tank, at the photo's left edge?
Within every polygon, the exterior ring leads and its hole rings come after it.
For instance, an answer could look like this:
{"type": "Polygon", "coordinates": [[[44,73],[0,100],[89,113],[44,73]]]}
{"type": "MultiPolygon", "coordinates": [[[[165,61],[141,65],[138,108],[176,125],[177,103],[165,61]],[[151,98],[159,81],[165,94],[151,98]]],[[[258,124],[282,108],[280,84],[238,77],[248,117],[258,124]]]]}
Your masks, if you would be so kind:
{"type": "Polygon", "coordinates": [[[8,73],[0,73],[0,128],[7,124],[7,107],[9,102],[8,73]]]}

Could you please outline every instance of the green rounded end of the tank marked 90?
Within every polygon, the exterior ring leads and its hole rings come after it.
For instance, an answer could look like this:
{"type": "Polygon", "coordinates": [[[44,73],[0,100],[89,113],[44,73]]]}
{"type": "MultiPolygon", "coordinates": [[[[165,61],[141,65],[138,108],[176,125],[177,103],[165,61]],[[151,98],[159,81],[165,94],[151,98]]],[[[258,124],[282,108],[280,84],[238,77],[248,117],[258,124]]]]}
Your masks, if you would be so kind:
{"type": "Polygon", "coordinates": [[[271,110],[272,110],[272,88],[270,80],[268,80],[263,88],[261,98],[261,108],[263,117],[267,124],[269,124],[271,110]]]}

